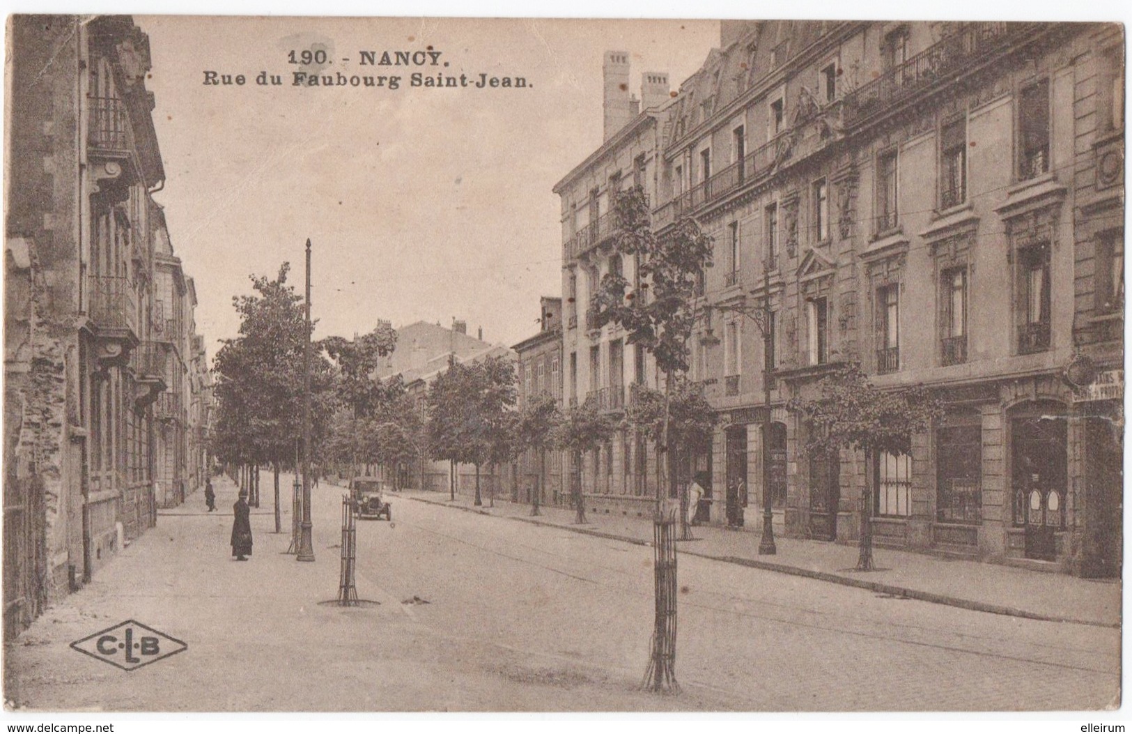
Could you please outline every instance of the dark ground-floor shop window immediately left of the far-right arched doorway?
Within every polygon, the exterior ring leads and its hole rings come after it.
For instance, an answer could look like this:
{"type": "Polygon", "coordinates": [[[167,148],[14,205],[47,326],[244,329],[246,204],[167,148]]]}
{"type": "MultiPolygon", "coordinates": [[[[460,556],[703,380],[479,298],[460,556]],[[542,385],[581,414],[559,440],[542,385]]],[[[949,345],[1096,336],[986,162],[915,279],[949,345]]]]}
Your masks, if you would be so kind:
{"type": "Polygon", "coordinates": [[[983,521],[983,432],[978,413],[935,432],[936,519],[977,524],[983,521]]]}

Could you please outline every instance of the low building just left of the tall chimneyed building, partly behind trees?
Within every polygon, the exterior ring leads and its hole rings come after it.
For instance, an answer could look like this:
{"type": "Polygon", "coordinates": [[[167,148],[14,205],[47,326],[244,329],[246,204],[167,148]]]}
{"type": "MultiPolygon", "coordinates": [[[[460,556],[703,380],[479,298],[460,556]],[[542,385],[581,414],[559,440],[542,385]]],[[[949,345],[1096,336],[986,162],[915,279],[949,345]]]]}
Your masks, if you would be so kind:
{"type": "MultiPolygon", "coordinates": [[[[554,399],[559,407],[563,402],[563,299],[543,296],[540,305],[539,333],[512,347],[516,355],[518,410],[542,398],[554,399]]],[[[533,449],[520,454],[515,460],[515,476],[511,483],[512,502],[530,503],[540,479],[539,473],[543,471],[540,501],[565,504],[568,501],[569,484],[568,480],[564,484],[563,477],[574,475],[563,462],[560,451],[547,452],[546,467],[540,467],[540,458],[533,449]]]]}

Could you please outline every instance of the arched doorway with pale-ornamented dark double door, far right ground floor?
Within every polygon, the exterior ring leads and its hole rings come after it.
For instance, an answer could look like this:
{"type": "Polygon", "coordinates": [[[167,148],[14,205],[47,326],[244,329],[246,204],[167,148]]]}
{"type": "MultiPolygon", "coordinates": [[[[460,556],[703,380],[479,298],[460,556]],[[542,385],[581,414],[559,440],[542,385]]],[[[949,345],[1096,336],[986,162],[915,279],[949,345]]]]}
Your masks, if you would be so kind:
{"type": "Polygon", "coordinates": [[[1060,416],[1011,421],[1014,524],[1026,528],[1026,557],[1054,561],[1065,527],[1066,423],[1060,416]]]}

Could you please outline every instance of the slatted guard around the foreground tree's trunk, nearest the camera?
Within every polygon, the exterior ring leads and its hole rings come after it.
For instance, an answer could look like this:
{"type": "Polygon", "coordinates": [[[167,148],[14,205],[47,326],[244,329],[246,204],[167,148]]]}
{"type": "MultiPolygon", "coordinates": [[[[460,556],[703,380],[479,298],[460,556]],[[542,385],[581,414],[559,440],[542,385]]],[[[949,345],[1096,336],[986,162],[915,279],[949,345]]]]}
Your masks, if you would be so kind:
{"type": "Polygon", "coordinates": [[[676,682],[676,517],[654,520],[653,578],[657,616],[652,632],[652,656],[642,688],[657,692],[679,692],[676,682]]]}

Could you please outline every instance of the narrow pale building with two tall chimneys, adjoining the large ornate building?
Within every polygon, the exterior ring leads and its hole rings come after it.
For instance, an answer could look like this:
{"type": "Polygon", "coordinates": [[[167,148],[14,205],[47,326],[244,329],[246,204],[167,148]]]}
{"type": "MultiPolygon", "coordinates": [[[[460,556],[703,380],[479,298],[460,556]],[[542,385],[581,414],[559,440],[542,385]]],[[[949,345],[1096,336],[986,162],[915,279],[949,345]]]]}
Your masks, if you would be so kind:
{"type": "MultiPolygon", "coordinates": [[[[561,202],[563,225],[563,403],[568,410],[586,400],[621,416],[635,384],[655,387],[658,374],[648,352],[626,343],[614,324],[595,327],[588,308],[607,273],[619,273],[641,290],[635,256],[614,251],[617,194],[640,186],[655,203],[664,139],[671,135],[668,75],[645,71],[641,96],[629,92],[629,54],[607,51],[602,67],[604,142],[578,163],[554,191],[561,202]]],[[[648,517],[657,492],[657,455],[651,442],[619,428],[614,439],[583,456],[586,507],[598,513],[648,517]]]]}

